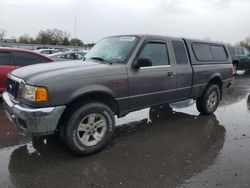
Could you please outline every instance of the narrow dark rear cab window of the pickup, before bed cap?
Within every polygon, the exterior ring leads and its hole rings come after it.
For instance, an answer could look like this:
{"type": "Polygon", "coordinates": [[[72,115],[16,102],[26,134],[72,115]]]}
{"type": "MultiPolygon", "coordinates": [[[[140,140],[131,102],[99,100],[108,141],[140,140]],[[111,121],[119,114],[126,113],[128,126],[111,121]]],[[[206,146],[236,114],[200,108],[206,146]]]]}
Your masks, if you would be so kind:
{"type": "Polygon", "coordinates": [[[188,64],[188,57],[186,53],[185,46],[181,41],[172,42],[175,60],[177,64],[188,64]]]}

